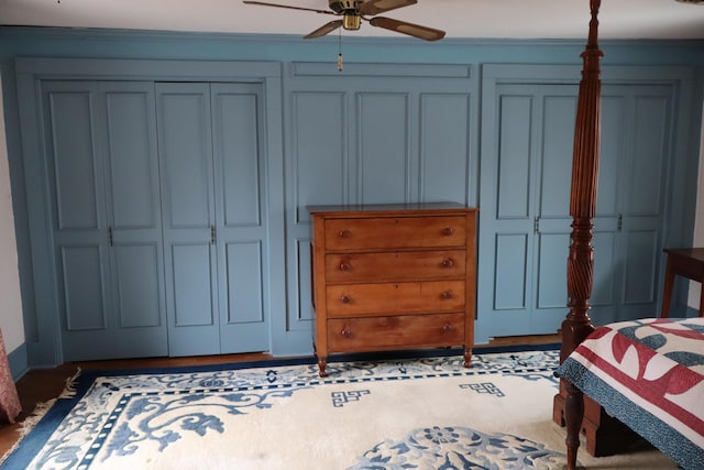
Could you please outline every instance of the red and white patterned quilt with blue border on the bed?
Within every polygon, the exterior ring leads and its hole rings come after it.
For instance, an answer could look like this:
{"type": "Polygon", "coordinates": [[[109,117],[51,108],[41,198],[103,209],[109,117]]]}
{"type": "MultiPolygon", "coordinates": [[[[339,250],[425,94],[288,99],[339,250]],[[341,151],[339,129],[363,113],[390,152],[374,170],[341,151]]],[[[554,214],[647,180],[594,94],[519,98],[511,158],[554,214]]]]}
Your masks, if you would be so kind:
{"type": "Polygon", "coordinates": [[[684,469],[704,469],[704,318],[596,328],[558,369],[684,469]]]}

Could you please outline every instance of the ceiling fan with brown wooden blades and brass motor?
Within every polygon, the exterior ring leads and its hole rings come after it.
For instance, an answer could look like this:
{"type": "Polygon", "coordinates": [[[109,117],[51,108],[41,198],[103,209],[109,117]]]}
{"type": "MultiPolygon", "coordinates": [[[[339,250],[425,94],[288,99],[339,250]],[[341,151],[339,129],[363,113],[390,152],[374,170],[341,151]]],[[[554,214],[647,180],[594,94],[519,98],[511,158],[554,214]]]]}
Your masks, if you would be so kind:
{"type": "Polygon", "coordinates": [[[342,17],[341,20],[333,20],[318,28],[312,33],[305,36],[307,40],[324,36],[326,34],[342,26],[345,30],[356,31],[362,25],[362,20],[367,21],[372,26],[383,28],[409,36],[426,41],[438,41],[444,37],[444,31],[436,30],[420,24],[408,23],[406,21],[393,20],[384,17],[373,17],[402,7],[418,3],[418,0],[328,0],[330,10],[316,10],[312,8],[292,7],[278,3],[267,3],[263,1],[244,0],[248,4],[258,4],[264,7],[287,8],[290,10],[312,11],[322,14],[342,17]]]}

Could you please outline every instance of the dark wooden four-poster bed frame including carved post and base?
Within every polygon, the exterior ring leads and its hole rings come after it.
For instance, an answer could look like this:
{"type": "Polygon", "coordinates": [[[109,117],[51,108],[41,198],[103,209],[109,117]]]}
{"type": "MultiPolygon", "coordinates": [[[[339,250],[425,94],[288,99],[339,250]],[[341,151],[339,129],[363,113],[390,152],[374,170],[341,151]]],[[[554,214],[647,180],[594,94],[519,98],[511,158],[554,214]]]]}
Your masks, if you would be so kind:
{"type": "MultiPolygon", "coordinates": [[[[602,81],[600,62],[603,53],[597,42],[601,0],[591,0],[590,7],[588,40],[586,50],[582,53],[584,66],[574,131],[570,190],[570,216],[573,220],[566,270],[569,313],[561,327],[561,363],[595,329],[588,310],[594,283],[594,247],[592,245],[594,226],[592,221],[596,216],[601,143],[602,81]]],[[[645,442],[644,438],[616,418],[610,417],[597,402],[565,379],[561,379],[560,391],[554,396],[553,420],[566,427],[568,470],[576,468],[582,431],[586,437],[587,451],[593,456],[616,453],[636,441],[645,442]]]]}

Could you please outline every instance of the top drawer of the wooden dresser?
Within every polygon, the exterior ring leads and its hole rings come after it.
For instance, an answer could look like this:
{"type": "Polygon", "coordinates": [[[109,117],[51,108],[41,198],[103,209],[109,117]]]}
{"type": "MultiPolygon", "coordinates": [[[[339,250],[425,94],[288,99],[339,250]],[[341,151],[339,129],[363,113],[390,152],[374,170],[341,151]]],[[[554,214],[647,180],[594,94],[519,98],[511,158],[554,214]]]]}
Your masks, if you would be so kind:
{"type": "Polygon", "coordinates": [[[394,248],[464,247],[464,216],[378,217],[370,219],[328,219],[326,249],[373,250],[394,248]]]}

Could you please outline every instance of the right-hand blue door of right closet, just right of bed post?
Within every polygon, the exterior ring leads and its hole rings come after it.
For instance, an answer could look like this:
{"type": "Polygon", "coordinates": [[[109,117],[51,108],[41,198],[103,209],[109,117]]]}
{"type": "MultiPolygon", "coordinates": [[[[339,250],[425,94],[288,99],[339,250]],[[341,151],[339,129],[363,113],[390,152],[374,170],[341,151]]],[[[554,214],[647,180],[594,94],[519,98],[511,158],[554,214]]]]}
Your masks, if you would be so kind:
{"type": "Polygon", "coordinates": [[[674,89],[670,85],[610,85],[603,94],[594,222],[593,316],[598,323],[659,311],[674,89]]]}

